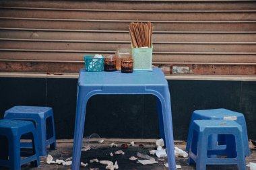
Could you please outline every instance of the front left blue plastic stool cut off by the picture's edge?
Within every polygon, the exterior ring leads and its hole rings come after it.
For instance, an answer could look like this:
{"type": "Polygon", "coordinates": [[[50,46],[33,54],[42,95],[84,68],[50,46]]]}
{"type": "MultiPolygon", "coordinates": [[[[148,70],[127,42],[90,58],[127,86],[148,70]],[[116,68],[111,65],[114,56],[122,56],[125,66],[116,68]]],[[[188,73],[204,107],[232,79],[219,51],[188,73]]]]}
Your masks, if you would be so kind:
{"type": "Polygon", "coordinates": [[[21,169],[21,165],[32,163],[36,167],[40,165],[38,154],[38,140],[36,129],[30,121],[0,120],[0,167],[9,167],[12,170],[21,169]],[[21,151],[20,138],[24,134],[30,134],[32,139],[32,153],[21,151]],[[21,157],[26,157],[21,159],[21,157]]]}

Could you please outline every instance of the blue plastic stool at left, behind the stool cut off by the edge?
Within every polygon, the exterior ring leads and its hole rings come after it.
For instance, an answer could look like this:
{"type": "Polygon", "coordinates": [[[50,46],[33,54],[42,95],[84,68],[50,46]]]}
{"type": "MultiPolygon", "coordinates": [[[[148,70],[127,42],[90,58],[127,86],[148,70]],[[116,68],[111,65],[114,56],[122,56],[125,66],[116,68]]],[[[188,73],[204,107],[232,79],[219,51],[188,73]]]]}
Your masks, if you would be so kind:
{"type": "MultiPolygon", "coordinates": [[[[55,126],[53,118],[53,110],[49,107],[37,106],[14,106],[5,111],[4,119],[30,120],[36,125],[36,133],[38,137],[39,155],[44,157],[47,155],[47,146],[56,149],[55,126]]],[[[31,147],[30,143],[22,144],[22,147],[31,147]]]]}

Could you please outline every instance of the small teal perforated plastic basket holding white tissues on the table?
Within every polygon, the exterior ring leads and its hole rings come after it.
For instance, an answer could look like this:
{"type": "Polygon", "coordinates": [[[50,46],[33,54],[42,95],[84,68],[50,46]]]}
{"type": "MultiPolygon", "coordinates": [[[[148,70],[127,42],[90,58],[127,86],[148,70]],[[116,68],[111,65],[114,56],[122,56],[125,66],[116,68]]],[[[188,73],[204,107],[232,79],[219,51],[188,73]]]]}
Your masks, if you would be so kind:
{"type": "Polygon", "coordinates": [[[84,63],[86,71],[103,71],[104,70],[104,57],[94,58],[94,55],[85,55],[84,63]]]}

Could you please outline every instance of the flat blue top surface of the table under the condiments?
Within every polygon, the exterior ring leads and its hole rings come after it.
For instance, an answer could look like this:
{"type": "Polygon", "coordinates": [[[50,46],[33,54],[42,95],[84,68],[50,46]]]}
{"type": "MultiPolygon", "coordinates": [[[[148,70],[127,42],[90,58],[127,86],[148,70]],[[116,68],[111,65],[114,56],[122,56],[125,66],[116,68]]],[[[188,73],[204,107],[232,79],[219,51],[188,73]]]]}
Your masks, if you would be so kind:
{"type": "Polygon", "coordinates": [[[87,72],[81,69],[79,73],[79,86],[85,85],[167,85],[166,78],[161,69],[152,71],[133,71],[133,73],[114,72],[87,72]]]}

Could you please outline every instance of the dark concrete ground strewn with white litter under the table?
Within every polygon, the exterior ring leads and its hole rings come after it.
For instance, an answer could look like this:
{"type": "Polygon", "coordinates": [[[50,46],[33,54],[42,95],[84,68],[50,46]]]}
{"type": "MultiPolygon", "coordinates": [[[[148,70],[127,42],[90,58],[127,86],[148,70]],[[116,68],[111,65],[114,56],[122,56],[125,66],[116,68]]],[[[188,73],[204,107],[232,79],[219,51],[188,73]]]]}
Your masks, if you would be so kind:
{"type": "MultiPolygon", "coordinates": [[[[164,163],[166,163],[166,159],[159,160],[158,164],[154,165],[141,165],[140,163],[136,163],[137,161],[130,161],[129,157],[135,156],[137,157],[137,152],[146,153],[150,155],[149,151],[154,149],[155,147],[155,141],[156,139],[144,139],[144,140],[138,140],[138,139],[104,139],[104,143],[100,144],[100,148],[97,149],[91,149],[90,151],[82,152],[81,161],[84,163],[88,163],[88,167],[80,167],[80,169],[90,169],[90,168],[98,168],[98,169],[105,169],[106,165],[101,165],[100,163],[89,163],[90,159],[98,159],[98,160],[108,160],[108,161],[117,161],[119,165],[119,169],[138,169],[138,170],[146,170],[146,169],[153,169],[153,170],[164,170],[167,169],[164,167],[164,163]],[[121,148],[121,144],[135,141],[135,146],[129,146],[128,148],[121,148]],[[109,144],[115,142],[118,144],[118,148],[110,148],[109,144]],[[143,144],[144,146],[141,147],[139,144],[143,144]],[[115,151],[122,150],[125,152],[125,155],[114,155],[111,157],[110,153],[115,153],[115,151]]],[[[175,141],[175,146],[178,146],[179,148],[185,149],[186,142],[183,141],[175,141]]],[[[57,150],[49,150],[49,154],[53,156],[54,161],[55,159],[67,159],[68,157],[72,156],[72,149],[73,149],[73,140],[57,140],[57,150]]],[[[247,157],[247,163],[249,161],[256,163],[256,148],[253,147],[253,145],[250,143],[251,148],[251,156],[247,157]]],[[[153,155],[150,155],[152,157],[156,157],[153,155]]],[[[41,165],[40,167],[32,167],[31,165],[23,165],[22,170],[24,169],[71,169],[71,166],[63,166],[63,165],[48,165],[46,164],[46,158],[41,157],[40,158],[41,165]]],[[[176,164],[181,165],[182,169],[186,170],[192,170],[195,169],[195,165],[188,165],[187,164],[187,158],[176,158],[176,164]]],[[[228,169],[238,169],[236,165],[207,165],[207,170],[209,169],[220,169],[220,170],[228,170],[228,169]]],[[[249,168],[247,168],[249,169],[249,168]]]]}

